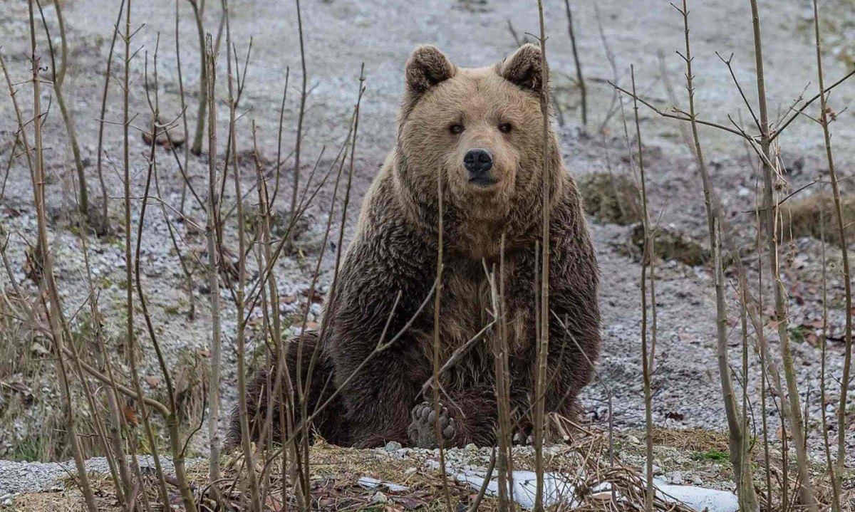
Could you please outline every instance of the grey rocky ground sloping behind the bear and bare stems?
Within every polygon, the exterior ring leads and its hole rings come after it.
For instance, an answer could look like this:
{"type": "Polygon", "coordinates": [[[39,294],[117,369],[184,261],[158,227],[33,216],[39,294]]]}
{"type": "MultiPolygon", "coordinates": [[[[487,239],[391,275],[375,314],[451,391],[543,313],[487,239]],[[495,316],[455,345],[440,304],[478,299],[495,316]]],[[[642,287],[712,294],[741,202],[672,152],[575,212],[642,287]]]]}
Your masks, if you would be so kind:
{"type": "MultiPolygon", "coordinates": [[[[219,6],[209,7],[205,16],[207,29],[215,32],[219,20],[219,6]]],[[[69,35],[71,57],[65,89],[68,103],[74,111],[78,136],[90,176],[91,190],[97,191],[95,162],[97,160],[97,116],[103,87],[103,68],[109,52],[110,28],[115,22],[116,5],[113,3],[65,2],[66,30],[69,35]]],[[[394,115],[402,89],[402,70],[410,50],[420,43],[437,44],[446,50],[451,59],[461,65],[485,65],[494,62],[513,50],[514,38],[508,30],[511,23],[519,38],[525,32],[536,32],[536,9],[522,7],[510,0],[445,0],[439,3],[387,3],[380,0],[349,2],[345,0],[318,0],[304,3],[304,28],[306,60],[310,96],[304,127],[302,167],[304,176],[317,160],[319,175],[326,172],[345,138],[347,121],[357,97],[357,77],[365,62],[367,91],[363,98],[357,158],[351,200],[351,215],[346,224],[345,240],[354,227],[356,205],[363,196],[376,169],[394,138],[394,115]],[[308,166],[308,167],[306,167],[308,166]]],[[[770,111],[777,119],[787,115],[792,103],[805,86],[805,97],[814,94],[816,79],[815,54],[811,46],[809,26],[810,3],[760,2],[764,22],[766,45],[765,62],[770,111]],[[772,44],[771,42],[774,42],[772,44]]],[[[198,89],[198,38],[189,6],[180,4],[180,55],[184,86],[190,111],[195,110],[198,89]]],[[[674,55],[682,49],[681,18],[667,3],[656,6],[628,6],[619,0],[574,5],[581,61],[586,73],[589,94],[587,127],[579,123],[579,95],[570,76],[575,74],[572,54],[566,35],[566,17],[562,3],[546,3],[546,30],[551,67],[555,72],[557,100],[563,109],[565,126],[559,128],[566,162],[580,180],[587,175],[610,170],[613,174],[629,176],[630,154],[623,135],[619,110],[610,109],[613,92],[606,80],[616,79],[628,84],[629,64],[634,64],[638,89],[662,107],[669,104],[669,86],[682,100],[682,62],[674,55]],[[598,28],[602,27],[602,32],[598,28]],[[607,50],[615,57],[616,76],[607,58],[607,50]],[[663,57],[660,57],[662,55],[663,57]],[[607,115],[613,110],[615,113],[607,115]],[[606,119],[608,117],[608,119],[606,119]],[[601,123],[602,126],[601,126],[601,123]]],[[[734,53],[734,71],[751,99],[754,97],[751,17],[747,5],[736,5],[727,0],[705,2],[693,6],[693,53],[696,56],[694,72],[697,76],[698,102],[701,115],[711,121],[728,123],[727,115],[737,119],[750,119],[750,114],[740,101],[727,68],[716,57],[734,53]],[[728,27],[724,30],[722,27],[728,27]]],[[[836,79],[851,68],[851,48],[847,46],[846,30],[852,30],[852,10],[846,1],[828,3],[831,10],[826,15],[828,32],[828,58],[826,74],[836,79]],[[848,16],[848,17],[847,17],[848,16]],[[836,27],[836,28],[834,28],[836,27]],[[834,32],[836,30],[837,32],[834,32]],[[841,36],[838,32],[841,32],[841,36]],[[848,61],[847,61],[848,59],[848,61]]],[[[278,107],[289,69],[288,96],[285,102],[283,138],[284,191],[276,207],[287,215],[293,176],[293,146],[299,105],[299,48],[296,16],[291,3],[261,0],[239,0],[231,3],[233,37],[239,55],[245,54],[250,37],[252,50],[246,74],[246,86],[239,107],[238,146],[241,158],[241,175],[245,190],[255,183],[255,170],[251,160],[251,121],[257,123],[257,140],[262,171],[274,173],[277,158],[278,107]]],[[[56,38],[56,23],[52,7],[45,15],[56,38]]],[[[174,50],[174,4],[151,3],[136,5],[133,9],[133,26],[141,26],[133,38],[133,49],[140,49],[130,65],[132,85],[130,100],[133,125],[144,127],[149,118],[144,97],[144,64],[146,54],[151,59],[155,53],[158,34],[159,96],[166,117],[180,113],[179,85],[174,50]]],[[[28,67],[27,12],[24,3],[3,3],[0,6],[0,37],[3,39],[3,56],[9,66],[12,80],[18,85],[18,101],[25,109],[31,104],[31,91],[25,82],[28,67]]],[[[54,40],[56,46],[58,42],[54,40]]],[[[45,50],[42,44],[42,51],[45,50]]],[[[44,63],[44,62],[43,62],[44,63]]],[[[114,63],[114,73],[121,76],[121,62],[114,63]]],[[[221,121],[219,151],[222,156],[225,140],[224,120],[227,120],[225,101],[225,59],[218,67],[218,88],[221,100],[218,117],[221,121]]],[[[153,91],[152,91],[153,92],[153,91]]],[[[89,326],[88,300],[85,280],[85,262],[79,229],[69,216],[73,209],[73,164],[62,118],[56,104],[52,103],[50,87],[43,89],[43,104],[50,105],[50,114],[44,122],[45,167],[48,174],[48,209],[50,245],[56,258],[56,277],[65,302],[66,313],[72,319],[75,333],[86,333],[89,326]]],[[[852,190],[852,164],[855,162],[855,114],[846,106],[855,99],[852,82],[838,87],[832,94],[833,107],[839,113],[834,123],[834,144],[838,172],[843,178],[844,191],[852,190]]],[[[629,106],[629,105],[627,105],[629,106]]],[[[816,110],[816,109],[814,109],[816,110]]],[[[631,115],[631,110],[627,110],[631,115]]],[[[705,214],[693,156],[684,143],[679,125],[663,120],[643,107],[640,110],[642,138],[645,146],[646,173],[649,179],[652,216],[661,228],[681,233],[693,243],[705,244],[705,214]]],[[[115,121],[121,117],[121,91],[112,86],[106,117],[115,121]]],[[[193,120],[190,118],[192,135],[193,120]]],[[[748,123],[746,122],[746,126],[748,123]]],[[[0,161],[9,161],[11,142],[15,135],[15,118],[8,98],[0,101],[0,161]]],[[[630,141],[634,148],[634,131],[630,141]]],[[[746,152],[739,139],[730,134],[706,129],[702,132],[705,151],[722,203],[734,227],[734,239],[745,251],[745,264],[752,280],[758,276],[758,253],[753,244],[753,213],[757,184],[756,162],[746,152]]],[[[823,155],[822,132],[816,123],[799,119],[787,128],[780,138],[781,157],[787,164],[787,191],[798,191],[791,200],[797,201],[818,191],[811,185],[827,168],[823,155]],[[803,189],[803,187],[805,187],[803,189]]],[[[121,221],[121,127],[107,125],[105,135],[104,179],[108,189],[112,222],[121,221]]],[[[133,167],[133,195],[142,194],[147,168],[148,145],[133,130],[131,140],[133,167]]],[[[183,159],[183,149],[179,152],[183,159]]],[[[158,149],[158,185],[162,199],[178,208],[182,193],[180,174],[173,156],[158,149]]],[[[26,162],[19,157],[11,161],[9,170],[0,169],[3,193],[0,208],[3,215],[0,227],[9,233],[6,254],[13,279],[27,293],[32,292],[32,280],[27,278],[27,248],[35,241],[35,216],[32,208],[32,190],[26,162]]],[[[205,197],[207,157],[190,156],[187,173],[201,197],[205,197]]],[[[788,193],[788,192],[787,192],[788,193]]],[[[225,202],[233,203],[233,194],[227,192],[225,202]]],[[[97,197],[98,193],[91,194],[97,197]]],[[[253,195],[254,197],[254,191],[253,195]]],[[[340,201],[338,202],[340,203],[340,201]]],[[[318,257],[323,256],[321,275],[316,290],[321,295],[327,291],[332,279],[335,256],[334,244],[321,245],[321,233],[327,222],[327,212],[333,204],[332,184],[327,183],[307,212],[305,232],[298,238],[300,250],[280,258],[276,273],[280,295],[286,297],[281,311],[286,318],[298,313],[304,303],[304,291],[310,287],[311,274],[318,257]]],[[[139,218],[140,203],[133,201],[133,219],[139,218]]],[[[149,204],[143,236],[140,243],[140,270],[143,286],[148,294],[149,308],[170,365],[185,376],[190,412],[198,414],[202,405],[198,399],[203,392],[206,368],[209,368],[209,289],[203,280],[205,259],[203,232],[204,212],[192,196],[186,201],[186,221],[181,221],[171,209],[161,209],[149,204]],[[196,305],[194,319],[188,318],[190,300],[184,274],[169,237],[168,222],[173,222],[180,233],[180,249],[187,255],[188,266],[194,273],[193,301],[196,305]],[[195,256],[192,256],[195,255],[195,256]]],[[[136,229],[136,227],[134,227],[136,229]]],[[[640,263],[637,250],[631,249],[633,226],[620,226],[592,218],[591,229],[603,275],[601,303],[604,313],[604,350],[598,365],[598,380],[582,397],[586,417],[594,425],[605,427],[609,419],[626,431],[637,429],[644,423],[640,379],[640,263]],[[628,250],[628,246],[630,249],[628,250]],[[613,403],[609,418],[608,402],[613,403]]],[[[227,231],[227,239],[234,240],[234,232],[227,231]]],[[[121,313],[126,294],[124,283],[124,238],[121,234],[110,237],[88,238],[93,282],[98,288],[97,303],[105,315],[104,326],[112,350],[121,354],[124,343],[124,316],[121,313]]],[[[848,450],[855,454],[855,411],[850,412],[846,425],[838,426],[834,413],[835,397],[840,389],[839,379],[843,361],[842,323],[843,302],[840,282],[839,251],[829,246],[828,308],[830,330],[828,337],[827,380],[828,400],[821,404],[820,389],[821,350],[817,323],[822,319],[821,244],[815,238],[795,238],[783,245],[782,274],[787,285],[791,314],[791,333],[795,364],[803,400],[808,403],[811,427],[811,448],[820,456],[818,428],[822,408],[826,407],[831,427],[846,428],[848,450]]],[[[685,252],[685,251],[678,251],[685,252]]],[[[678,255],[679,256],[679,255],[678,255]]],[[[657,362],[653,376],[655,388],[653,418],[657,426],[668,428],[702,427],[721,430],[726,427],[720,398],[715,360],[715,307],[712,297],[711,274],[703,262],[686,264],[679,258],[666,258],[657,268],[657,362]]],[[[5,273],[0,286],[12,286],[5,273]]],[[[256,276],[257,277],[257,276],[256,276]]],[[[734,276],[728,276],[733,278],[734,276]]],[[[768,281],[768,276],[765,276],[768,281]]],[[[728,295],[735,296],[731,279],[728,295]]],[[[769,315],[769,295],[764,310],[766,332],[777,352],[775,325],[769,315]]],[[[225,350],[220,362],[223,371],[222,393],[224,406],[234,403],[235,310],[232,297],[222,292],[223,329],[225,350]]],[[[310,309],[310,321],[317,320],[320,306],[310,309]]],[[[151,354],[150,341],[144,324],[138,316],[138,335],[144,344],[141,374],[145,391],[153,396],[162,395],[161,379],[156,361],[151,354]]],[[[310,326],[311,327],[311,326],[310,326]]],[[[738,309],[731,308],[730,340],[734,368],[740,362],[740,327],[738,309]]],[[[289,333],[299,327],[289,327],[289,333]]],[[[7,333],[13,333],[9,330],[7,333]]],[[[14,343],[0,347],[0,458],[36,460],[45,454],[61,454],[59,446],[51,439],[61,436],[42,436],[40,431],[62,431],[62,413],[58,408],[59,392],[52,374],[50,350],[44,340],[33,336],[28,327],[17,327],[14,343]]],[[[252,354],[261,354],[260,344],[251,344],[252,354]]],[[[758,366],[753,352],[750,357],[748,397],[754,411],[752,427],[760,432],[760,390],[758,366]]],[[[736,374],[741,370],[737,369],[736,374]]],[[[850,385],[850,390],[855,388],[850,385]]],[[[852,407],[852,406],[850,406],[852,407]]],[[[769,433],[777,442],[777,417],[772,405],[769,433]]],[[[194,438],[193,450],[206,451],[204,430],[194,438]]],[[[834,431],[836,433],[836,431],[834,431]]],[[[833,433],[833,434],[834,434],[833,433]]],[[[849,461],[855,462],[855,459],[849,461]]],[[[665,468],[667,471],[672,469],[665,468]]],[[[12,491],[33,490],[22,482],[20,466],[0,463],[0,496],[12,491]]],[[[26,470],[25,470],[26,471],[26,470]]],[[[35,471],[35,470],[34,470],[35,471]]],[[[719,479],[719,480],[727,480],[719,479]]],[[[39,487],[41,488],[41,487],[39,487]]]]}

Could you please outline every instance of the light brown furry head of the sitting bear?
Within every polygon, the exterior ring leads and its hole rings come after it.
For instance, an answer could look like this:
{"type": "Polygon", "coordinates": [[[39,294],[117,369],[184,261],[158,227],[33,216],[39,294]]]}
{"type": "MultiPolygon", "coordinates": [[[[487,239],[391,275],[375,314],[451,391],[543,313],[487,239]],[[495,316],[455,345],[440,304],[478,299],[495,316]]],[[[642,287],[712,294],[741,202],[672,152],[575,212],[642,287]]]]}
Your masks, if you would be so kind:
{"type": "MultiPolygon", "coordinates": [[[[406,64],[396,179],[424,221],[442,180],[446,223],[534,222],[543,180],[540,48],[525,44],[487,68],[458,68],[433,46],[406,64]]],[[[549,129],[551,174],[561,167],[549,129]]],[[[447,224],[446,224],[447,225],[447,224]]]]}

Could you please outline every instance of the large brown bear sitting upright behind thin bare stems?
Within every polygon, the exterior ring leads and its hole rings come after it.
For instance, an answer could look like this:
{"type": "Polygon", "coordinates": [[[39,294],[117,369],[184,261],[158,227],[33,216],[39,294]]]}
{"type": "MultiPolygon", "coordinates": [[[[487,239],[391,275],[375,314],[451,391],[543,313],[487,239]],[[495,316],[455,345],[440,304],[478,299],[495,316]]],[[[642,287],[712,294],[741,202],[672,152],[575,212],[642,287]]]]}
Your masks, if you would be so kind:
{"type": "MultiPolygon", "coordinates": [[[[284,358],[291,379],[304,385],[315,357],[311,383],[304,387],[307,413],[329,402],[312,418],[314,432],[327,441],[357,447],[438,444],[431,393],[422,389],[433,377],[441,180],[440,362],[457,355],[440,378],[440,432],[445,446],[493,444],[498,330],[486,329],[468,342],[492,322],[490,280],[495,275],[498,281],[504,235],[510,405],[516,432],[530,432],[536,243],[543,218],[540,49],[526,44],[494,66],[458,68],[433,46],[421,46],[406,64],[405,83],[395,148],[364,199],[337,290],[325,307],[323,339],[307,333],[302,343],[292,340],[284,358]],[[375,352],[380,341],[387,346],[375,352]],[[459,350],[464,345],[467,350],[459,350]]],[[[548,158],[551,315],[545,410],[572,415],[599,353],[598,266],[581,197],[551,128],[548,158]]],[[[274,436],[282,435],[282,398],[268,399],[276,368],[276,362],[268,364],[248,389],[253,438],[267,415],[274,436]]],[[[275,389],[294,392],[295,385],[275,389]]],[[[300,417],[295,413],[289,423],[298,424],[300,417]]],[[[237,414],[230,435],[233,443],[239,441],[237,414]]]]}

